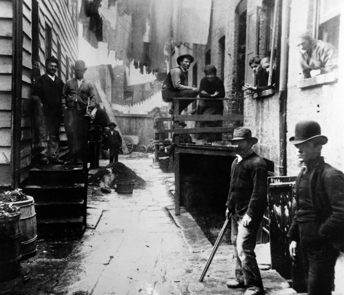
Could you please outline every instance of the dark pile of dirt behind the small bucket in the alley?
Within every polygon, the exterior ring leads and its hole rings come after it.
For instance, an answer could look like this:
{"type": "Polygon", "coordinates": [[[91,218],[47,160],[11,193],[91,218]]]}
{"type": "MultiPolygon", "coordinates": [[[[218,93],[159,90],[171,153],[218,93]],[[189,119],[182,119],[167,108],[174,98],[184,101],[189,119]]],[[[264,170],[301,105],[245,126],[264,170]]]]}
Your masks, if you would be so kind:
{"type": "Polygon", "coordinates": [[[88,179],[88,183],[100,187],[115,188],[117,180],[133,180],[135,189],[143,189],[146,186],[146,181],[120,162],[111,163],[99,169],[88,179]]]}

